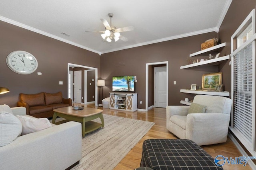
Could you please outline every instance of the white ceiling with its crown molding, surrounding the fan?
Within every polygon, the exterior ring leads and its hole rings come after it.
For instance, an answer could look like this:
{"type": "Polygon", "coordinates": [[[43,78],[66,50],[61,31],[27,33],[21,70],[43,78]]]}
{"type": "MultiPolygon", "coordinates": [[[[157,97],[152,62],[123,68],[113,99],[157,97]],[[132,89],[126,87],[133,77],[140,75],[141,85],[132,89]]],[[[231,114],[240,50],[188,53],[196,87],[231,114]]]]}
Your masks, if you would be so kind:
{"type": "Polygon", "coordinates": [[[0,0],[0,20],[98,54],[217,31],[231,0],[0,0]],[[129,40],[102,42],[100,18],[129,40]],[[62,35],[64,32],[70,37],[62,35]]]}

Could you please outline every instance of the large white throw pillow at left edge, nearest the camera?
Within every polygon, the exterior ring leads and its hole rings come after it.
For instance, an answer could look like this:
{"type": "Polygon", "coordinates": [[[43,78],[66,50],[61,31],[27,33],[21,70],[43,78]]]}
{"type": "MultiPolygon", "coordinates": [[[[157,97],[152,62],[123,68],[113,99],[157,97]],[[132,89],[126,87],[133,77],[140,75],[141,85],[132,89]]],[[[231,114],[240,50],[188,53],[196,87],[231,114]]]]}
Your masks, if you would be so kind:
{"type": "Polygon", "coordinates": [[[20,120],[4,111],[0,112],[0,147],[14,141],[22,132],[20,120]]]}

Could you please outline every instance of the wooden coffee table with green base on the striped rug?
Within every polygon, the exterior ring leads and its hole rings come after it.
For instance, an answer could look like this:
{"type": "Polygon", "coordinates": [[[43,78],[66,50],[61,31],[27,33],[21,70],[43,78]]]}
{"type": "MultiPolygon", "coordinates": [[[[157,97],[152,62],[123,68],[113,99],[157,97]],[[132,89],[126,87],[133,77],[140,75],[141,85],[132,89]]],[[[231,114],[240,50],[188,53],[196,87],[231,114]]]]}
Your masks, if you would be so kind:
{"type": "Polygon", "coordinates": [[[62,107],[54,109],[54,114],[52,117],[52,123],[55,124],[56,117],[63,117],[71,121],[77,121],[82,123],[82,136],[84,137],[86,133],[90,133],[104,127],[104,118],[101,109],[94,109],[90,107],[84,107],[82,110],[72,110],[72,106],[62,107]],[[92,120],[100,118],[101,123],[94,122],[92,120]]]}

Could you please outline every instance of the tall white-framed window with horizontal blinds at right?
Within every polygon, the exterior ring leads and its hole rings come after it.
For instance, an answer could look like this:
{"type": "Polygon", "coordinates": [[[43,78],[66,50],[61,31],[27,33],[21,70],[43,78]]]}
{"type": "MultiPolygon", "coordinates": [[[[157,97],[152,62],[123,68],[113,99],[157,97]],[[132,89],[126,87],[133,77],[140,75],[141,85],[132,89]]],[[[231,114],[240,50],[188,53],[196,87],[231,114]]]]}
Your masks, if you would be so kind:
{"type": "Polygon", "coordinates": [[[232,101],[230,130],[256,156],[255,10],[231,37],[232,101]]]}

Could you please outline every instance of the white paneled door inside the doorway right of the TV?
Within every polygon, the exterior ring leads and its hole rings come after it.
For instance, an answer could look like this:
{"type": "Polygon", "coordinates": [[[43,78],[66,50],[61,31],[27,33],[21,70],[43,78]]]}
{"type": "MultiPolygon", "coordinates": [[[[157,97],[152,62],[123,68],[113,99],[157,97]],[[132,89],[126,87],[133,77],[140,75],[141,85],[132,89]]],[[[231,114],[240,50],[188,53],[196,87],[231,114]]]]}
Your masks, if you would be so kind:
{"type": "Polygon", "coordinates": [[[166,79],[166,66],[155,67],[154,68],[155,78],[154,78],[154,106],[155,107],[166,107],[166,89],[167,89],[167,79],[166,79]]]}

